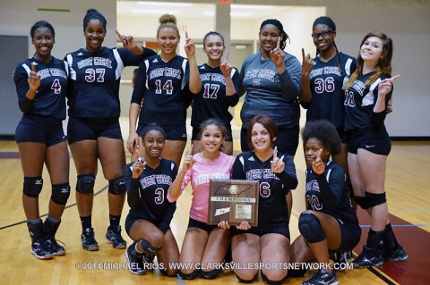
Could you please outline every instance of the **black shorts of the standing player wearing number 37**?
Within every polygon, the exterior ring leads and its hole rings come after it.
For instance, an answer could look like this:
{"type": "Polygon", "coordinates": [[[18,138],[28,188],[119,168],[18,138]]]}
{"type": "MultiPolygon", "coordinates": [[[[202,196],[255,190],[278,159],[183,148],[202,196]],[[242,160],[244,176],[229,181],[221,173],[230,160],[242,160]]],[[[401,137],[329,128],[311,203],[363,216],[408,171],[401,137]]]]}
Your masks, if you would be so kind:
{"type": "Polygon", "coordinates": [[[69,118],[67,125],[69,144],[80,140],[97,140],[99,137],[123,140],[118,118],[69,118]]]}

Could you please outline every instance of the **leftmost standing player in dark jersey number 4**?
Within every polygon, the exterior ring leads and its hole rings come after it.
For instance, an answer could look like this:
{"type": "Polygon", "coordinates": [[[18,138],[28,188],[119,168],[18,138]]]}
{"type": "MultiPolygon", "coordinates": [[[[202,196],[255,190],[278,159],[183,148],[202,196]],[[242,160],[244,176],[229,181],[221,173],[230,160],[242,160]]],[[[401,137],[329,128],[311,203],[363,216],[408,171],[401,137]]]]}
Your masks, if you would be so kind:
{"type": "Polygon", "coordinates": [[[30,36],[36,53],[13,72],[23,113],[15,138],[24,174],[22,205],[30,231],[31,253],[40,259],[48,259],[65,254],[55,235],[70,196],[69,153],[62,123],[65,119],[68,66],[51,54],[56,41],[51,24],[36,22],[30,29],[30,36]],[[39,215],[43,164],[47,165],[52,185],[45,222],[39,215]]]}

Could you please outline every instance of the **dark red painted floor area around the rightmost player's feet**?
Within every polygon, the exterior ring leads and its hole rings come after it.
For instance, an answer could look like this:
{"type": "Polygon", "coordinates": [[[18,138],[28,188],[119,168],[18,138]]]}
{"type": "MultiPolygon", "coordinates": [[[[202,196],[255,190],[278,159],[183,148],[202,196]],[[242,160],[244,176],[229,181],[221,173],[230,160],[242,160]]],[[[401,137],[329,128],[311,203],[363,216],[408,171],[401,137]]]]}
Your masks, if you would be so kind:
{"type": "MultiPolygon", "coordinates": [[[[370,224],[369,215],[361,208],[357,211],[360,224],[370,224]]],[[[395,225],[410,224],[395,215],[390,214],[391,225],[400,245],[408,253],[408,260],[403,262],[385,262],[379,269],[400,284],[429,284],[430,268],[430,232],[418,227],[395,227],[395,225]]],[[[354,251],[361,253],[366,244],[369,228],[363,228],[360,242],[354,251]]]]}

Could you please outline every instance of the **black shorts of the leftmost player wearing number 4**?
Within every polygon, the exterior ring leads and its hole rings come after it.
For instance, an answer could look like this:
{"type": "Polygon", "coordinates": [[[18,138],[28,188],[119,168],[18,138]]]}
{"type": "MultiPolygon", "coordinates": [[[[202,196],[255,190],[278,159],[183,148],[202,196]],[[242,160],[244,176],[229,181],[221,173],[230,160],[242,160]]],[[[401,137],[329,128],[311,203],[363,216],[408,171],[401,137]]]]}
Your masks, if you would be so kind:
{"type": "Polygon", "coordinates": [[[54,146],[66,140],[63,121],[37,114],[24,114],[15,130],[15,140],[54,146]]]}

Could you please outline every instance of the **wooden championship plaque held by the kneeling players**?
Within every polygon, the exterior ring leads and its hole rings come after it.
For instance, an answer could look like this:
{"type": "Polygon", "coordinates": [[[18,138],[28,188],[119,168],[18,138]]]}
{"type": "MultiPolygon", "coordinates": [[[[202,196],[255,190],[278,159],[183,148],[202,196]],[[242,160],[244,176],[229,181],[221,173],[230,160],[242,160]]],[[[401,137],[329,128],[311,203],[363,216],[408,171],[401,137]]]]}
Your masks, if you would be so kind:
{"type": "Polygon", "coordinates": [[[258,224],[258,180],[210,180],[208,224],[258,224]]]}

